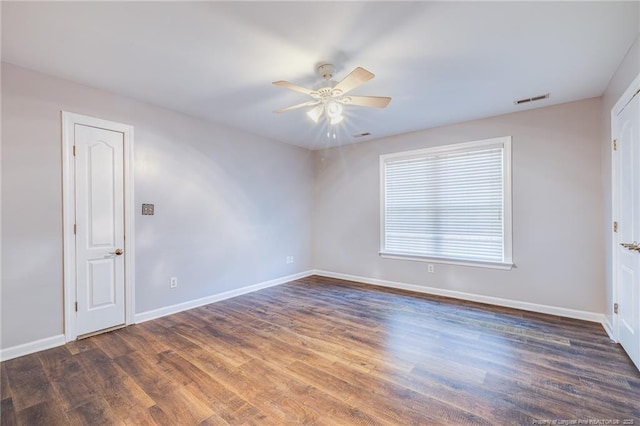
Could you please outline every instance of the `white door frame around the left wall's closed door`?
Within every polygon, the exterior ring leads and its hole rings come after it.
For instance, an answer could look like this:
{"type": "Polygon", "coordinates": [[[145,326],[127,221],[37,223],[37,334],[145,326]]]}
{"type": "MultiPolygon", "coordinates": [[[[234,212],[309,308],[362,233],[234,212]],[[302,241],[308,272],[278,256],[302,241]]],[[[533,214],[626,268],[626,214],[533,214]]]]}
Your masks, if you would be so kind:
{"type": "Polygon", "coordinates": [[[135,220],[133,198],[133,126],[87,115],[61,111],[62,121],[62,233],[64,283],[64,336],[66,342],[78,337],[76,326],[76,245],[73,232],[76,211],[75,162],[73,145],[76,124],[121,132],[124,136],[124,286],[125,324],[135,318],[135,220]]]}

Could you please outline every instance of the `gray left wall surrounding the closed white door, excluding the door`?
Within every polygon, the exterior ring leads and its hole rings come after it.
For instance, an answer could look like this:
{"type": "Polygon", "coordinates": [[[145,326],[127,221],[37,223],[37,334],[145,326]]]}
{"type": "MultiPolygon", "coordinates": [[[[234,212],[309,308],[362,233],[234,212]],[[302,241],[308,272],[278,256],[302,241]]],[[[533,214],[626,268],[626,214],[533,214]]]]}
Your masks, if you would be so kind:
{"type": "Polygon", "coordinates": [[[1,348],[63,333],[61,110],[135,127],[137,313],[311,269],[309,151],[3,64],[1,348]]]}

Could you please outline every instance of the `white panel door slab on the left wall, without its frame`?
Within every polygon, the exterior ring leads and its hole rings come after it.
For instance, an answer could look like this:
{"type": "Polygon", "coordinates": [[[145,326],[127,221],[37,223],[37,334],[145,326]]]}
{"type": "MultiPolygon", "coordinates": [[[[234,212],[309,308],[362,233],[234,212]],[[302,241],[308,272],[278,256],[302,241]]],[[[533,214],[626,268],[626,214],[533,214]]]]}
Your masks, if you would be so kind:
{"type": "Polygon", "coordinates": [[[77,334],[125,324],[124,135],[75,124],[77,334]]]}

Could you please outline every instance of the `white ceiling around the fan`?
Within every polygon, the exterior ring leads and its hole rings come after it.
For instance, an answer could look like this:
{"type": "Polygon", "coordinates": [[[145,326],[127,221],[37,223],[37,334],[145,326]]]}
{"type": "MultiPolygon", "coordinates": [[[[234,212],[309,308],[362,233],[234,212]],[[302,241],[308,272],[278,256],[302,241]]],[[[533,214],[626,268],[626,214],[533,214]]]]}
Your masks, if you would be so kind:
{"type": "Polygon", "coordinates": [[[599,96],[637,2],[2,2],[2,60],[317,149],[599,96]],[[337,141],[295,110],[315,66],[376,77],[337,141]],[[513,101],[551,93],[528,106],[513,101]],[[353,134],[371,136],[354,139],[353,134]]]}

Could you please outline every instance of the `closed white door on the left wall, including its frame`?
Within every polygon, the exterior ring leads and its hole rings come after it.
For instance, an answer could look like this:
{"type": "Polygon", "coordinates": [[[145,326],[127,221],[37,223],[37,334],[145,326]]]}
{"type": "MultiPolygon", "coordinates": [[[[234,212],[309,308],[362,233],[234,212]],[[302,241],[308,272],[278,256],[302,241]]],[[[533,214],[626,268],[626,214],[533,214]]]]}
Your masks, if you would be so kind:
{"type": "Polygon", "coordinates": [[[132,321],[131,126],[63,112],[65,336],[132,321]]]}

